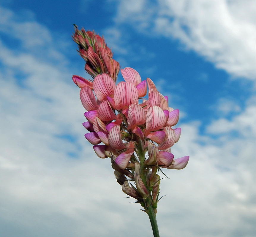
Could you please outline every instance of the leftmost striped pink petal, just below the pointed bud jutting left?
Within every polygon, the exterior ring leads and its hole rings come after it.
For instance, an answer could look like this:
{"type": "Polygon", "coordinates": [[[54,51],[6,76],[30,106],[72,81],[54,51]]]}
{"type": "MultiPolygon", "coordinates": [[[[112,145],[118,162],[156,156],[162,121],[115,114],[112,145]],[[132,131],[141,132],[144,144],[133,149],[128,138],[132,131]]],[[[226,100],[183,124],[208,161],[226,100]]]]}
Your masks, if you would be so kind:
{"type": "Polygon", "coordinates": [[[87,111],[97,110],[98,105],[96,103],[95,96],[89,87],[82,87],[80,90],[80,100],[83,108],[87,111]]]}

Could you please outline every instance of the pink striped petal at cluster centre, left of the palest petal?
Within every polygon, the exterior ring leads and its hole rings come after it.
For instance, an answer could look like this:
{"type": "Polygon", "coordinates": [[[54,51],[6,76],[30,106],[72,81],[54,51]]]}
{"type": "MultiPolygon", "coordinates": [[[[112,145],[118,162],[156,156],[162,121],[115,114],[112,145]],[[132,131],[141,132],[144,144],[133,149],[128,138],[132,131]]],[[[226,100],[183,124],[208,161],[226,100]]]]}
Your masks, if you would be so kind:
{"type": "Polygon", "coordinates": [[[127,115],[128,129],[133,125],[140,125],[146,122],[146,111],[138,104],[129,105],[127,115]]]}

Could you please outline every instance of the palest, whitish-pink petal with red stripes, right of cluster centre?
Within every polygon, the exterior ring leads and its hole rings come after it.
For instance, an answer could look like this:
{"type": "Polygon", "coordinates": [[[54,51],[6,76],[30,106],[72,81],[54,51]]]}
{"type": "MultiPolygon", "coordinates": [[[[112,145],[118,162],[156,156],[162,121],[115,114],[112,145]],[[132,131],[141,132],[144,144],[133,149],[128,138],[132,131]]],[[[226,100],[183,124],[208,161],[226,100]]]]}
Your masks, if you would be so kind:
{"type": "Polygon", "coordinates": [[[156,105],[149,107],[146,116],[146,130],[156,131],[165,125],[165,114],[156,105]]]}

